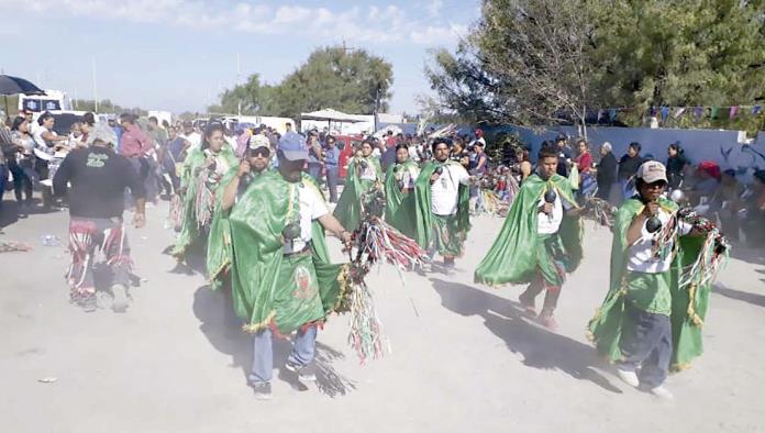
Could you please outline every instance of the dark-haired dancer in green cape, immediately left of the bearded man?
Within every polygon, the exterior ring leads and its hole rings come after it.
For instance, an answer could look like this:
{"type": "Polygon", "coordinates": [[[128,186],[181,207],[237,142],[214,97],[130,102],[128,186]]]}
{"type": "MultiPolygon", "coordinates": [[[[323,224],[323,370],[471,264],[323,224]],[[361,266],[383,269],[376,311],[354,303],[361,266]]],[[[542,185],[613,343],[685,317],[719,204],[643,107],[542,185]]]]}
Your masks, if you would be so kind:
{"type": "Polygon", "coordinates": [[[396,164],[385,175],[385,220],[409,237],[417,236],[414,182],[419,175],[420,167],[409,158],[407,145],[396,146],[396,164]]]}

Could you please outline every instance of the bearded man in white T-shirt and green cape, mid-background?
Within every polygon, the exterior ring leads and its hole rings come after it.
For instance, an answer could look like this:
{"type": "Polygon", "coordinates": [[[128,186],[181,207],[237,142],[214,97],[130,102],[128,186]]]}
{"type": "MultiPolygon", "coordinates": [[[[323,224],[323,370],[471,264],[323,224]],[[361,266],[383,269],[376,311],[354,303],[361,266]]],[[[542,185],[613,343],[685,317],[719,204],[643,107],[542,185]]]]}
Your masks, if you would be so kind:
{"type": "Polygon", "coordinates": [[[470,230],[470,190],[473,180],[465,167],[448,159],[451,142],[435,138],[431,145],[435,160],[422,167],[414,185],[417,236],[421,247],[444,257],[444,267],[454,268],[455,257],[470,230]]]}

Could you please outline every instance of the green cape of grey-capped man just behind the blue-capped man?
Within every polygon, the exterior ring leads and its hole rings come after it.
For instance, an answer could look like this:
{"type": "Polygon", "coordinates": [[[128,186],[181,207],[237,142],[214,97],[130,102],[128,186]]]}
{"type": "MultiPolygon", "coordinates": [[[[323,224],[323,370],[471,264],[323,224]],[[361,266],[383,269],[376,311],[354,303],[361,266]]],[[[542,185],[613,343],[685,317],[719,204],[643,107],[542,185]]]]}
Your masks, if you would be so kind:
{"type": "MultiPolygon", "coordinates": [[[[221,287],[223,282],[223,277],[230,270],[232,244],[231,244],[231,225],[229,222],[229,216],[231,216],[232,209],[222,210],[221,206],[223,203],[222,191],[225,187],[231,184],[231,181],[236,177],[239,167],[233,167],[229,173],[221,179],[221,193],[215,195],[215,210],[212,214],[212,223],[210,223],[210,236],[208,237],[208,248],[207,248],[207,275],[208,284],[212,290],[217,290],[221,287]]],[[[260,174],[252,173],[252,181],[268,173],[265,169],[260,174]]],[[[242,180],[244,181],[244,180],[242,180]]],[[[250,189],[250,185],[247,186],[250,189]]]]}

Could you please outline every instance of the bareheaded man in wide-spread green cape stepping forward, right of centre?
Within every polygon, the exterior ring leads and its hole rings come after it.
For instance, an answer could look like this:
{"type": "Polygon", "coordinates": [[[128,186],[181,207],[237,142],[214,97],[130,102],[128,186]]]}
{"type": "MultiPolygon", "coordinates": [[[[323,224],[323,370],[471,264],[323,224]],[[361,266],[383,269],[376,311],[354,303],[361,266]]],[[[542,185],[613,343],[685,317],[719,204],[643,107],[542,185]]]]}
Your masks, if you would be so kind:
{"type": "Polygon", "coordinates": [[[581,222],[568,179],[557,175],[558,154],[552,146],[539,153],[536,173],[521,184],[497,241],[475,271],[489,286],[530,284],[520,296],[528,314],[556,329],[553,312],[566,273],[581,262],[581,222]],[[546,291],[542,312],[535,299],[546,291]]]}

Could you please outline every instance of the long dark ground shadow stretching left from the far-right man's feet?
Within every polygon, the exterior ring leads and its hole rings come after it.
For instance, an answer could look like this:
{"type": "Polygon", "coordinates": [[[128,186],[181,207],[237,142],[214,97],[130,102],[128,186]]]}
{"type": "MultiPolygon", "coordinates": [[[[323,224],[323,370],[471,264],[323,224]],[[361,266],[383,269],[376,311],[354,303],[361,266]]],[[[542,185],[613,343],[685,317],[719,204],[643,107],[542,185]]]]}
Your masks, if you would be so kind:
{"type": "Polygon", "coordinates": [[[462,315],[480,315],[486,327],[502,338],[511,352],[523,356],[523,365],[559,369],[608,391],[622,392],[592,368],[603,366],[595,348],[526,322],[517,302],[457,282],[434,278],[431,281],[444,307],[462,315]]]}

